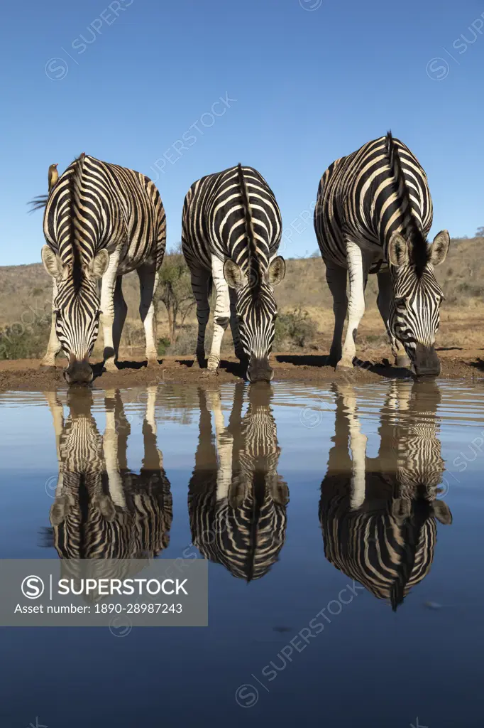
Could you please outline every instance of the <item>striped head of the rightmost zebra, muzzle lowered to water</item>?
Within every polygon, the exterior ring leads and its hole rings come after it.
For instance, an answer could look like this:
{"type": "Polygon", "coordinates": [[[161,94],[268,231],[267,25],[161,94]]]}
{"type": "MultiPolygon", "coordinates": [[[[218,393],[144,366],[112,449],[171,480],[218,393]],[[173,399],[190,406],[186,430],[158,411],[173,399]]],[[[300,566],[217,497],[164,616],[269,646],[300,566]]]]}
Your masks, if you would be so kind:
{"type": "Polygon", "coordinates": [[[398,232],[390,238],[388,260],[393,280],[390,331],[405,347],[416,376],[440,374],[435,335],[443,292],[434,269],[445,261],[450,242],[446,230],[435,236],[432,245],[423,237],[418,244],[412,244],[398,232]]]}

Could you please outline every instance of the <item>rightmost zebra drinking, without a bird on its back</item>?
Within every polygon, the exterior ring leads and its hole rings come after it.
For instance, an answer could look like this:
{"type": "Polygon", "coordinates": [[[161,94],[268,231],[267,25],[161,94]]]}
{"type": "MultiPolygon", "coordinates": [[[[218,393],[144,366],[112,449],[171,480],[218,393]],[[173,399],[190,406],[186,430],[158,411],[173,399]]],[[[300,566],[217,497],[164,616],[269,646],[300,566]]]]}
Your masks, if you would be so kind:
{"type": "Polygon", "coordinates": [[[443,230],[427,243],[432,215],[427,175],[391,132],[336,159],[323,174],[314,225],[334,301],[331,364],[352,367],[368,273],[376,273],[395,363],[411,365],[417,376],[440,373],[434,344],[443,292],[434,268],[445,261],[450,237],[443,230]]]}

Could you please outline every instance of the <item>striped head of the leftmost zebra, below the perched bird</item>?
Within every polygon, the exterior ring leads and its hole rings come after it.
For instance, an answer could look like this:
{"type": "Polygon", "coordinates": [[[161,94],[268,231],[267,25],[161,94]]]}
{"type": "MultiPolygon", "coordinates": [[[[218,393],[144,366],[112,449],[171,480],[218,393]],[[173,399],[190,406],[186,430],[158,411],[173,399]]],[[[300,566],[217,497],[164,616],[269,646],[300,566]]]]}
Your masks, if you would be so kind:
{"type": "Polygon", "coordinates": [[[99,282],[109,264],[107,250],[100,250],[89,263],[64,264],[49,247],[42,248],[42,262],[55,280],[55,332],[68,358],[68,384],[89,384],[89,357],[99,331],[99,282]]]}

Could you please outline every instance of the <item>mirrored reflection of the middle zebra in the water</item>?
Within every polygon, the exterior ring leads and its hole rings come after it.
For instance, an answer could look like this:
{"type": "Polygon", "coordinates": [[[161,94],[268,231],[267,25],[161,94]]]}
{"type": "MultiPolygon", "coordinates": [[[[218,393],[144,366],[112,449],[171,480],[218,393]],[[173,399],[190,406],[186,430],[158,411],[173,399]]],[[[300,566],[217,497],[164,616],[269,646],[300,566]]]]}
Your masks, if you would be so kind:
{"type": "Polygon", "coordinates": [[[289,502],[289,488],[277,472],[281,448],[270,391],[251,387],[242,416],[244,385],[235,385],[227,429],[219,391],[198,391],[200,434],[188,488],[193,545],[234,577],[260,579],[283,547],[289,502]]]}

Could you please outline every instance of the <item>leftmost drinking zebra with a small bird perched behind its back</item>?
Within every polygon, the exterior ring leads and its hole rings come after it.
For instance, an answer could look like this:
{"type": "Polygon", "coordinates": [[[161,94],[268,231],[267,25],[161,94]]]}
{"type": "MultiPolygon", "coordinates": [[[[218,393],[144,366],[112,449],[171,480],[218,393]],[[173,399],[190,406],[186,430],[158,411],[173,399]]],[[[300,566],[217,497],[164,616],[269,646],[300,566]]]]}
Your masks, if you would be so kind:
{"type": "Polygon", "coordinates": [[[154,183],[81,154],[49,195],[33,202],[33,209],[44,206],[47,244],[41,256],[52,277],[52,326],[41,366],[55,366],[62,349],[68,383],[92,381],[89,356],[100,321],[105,368],[116,371],[127,311],[122,276],[133,270],[140,279],[148,365],[156,364],[154,296],[166,248],[166,215],[154,183]]]}

